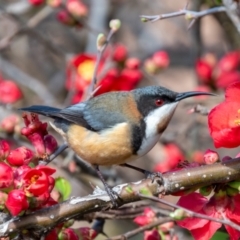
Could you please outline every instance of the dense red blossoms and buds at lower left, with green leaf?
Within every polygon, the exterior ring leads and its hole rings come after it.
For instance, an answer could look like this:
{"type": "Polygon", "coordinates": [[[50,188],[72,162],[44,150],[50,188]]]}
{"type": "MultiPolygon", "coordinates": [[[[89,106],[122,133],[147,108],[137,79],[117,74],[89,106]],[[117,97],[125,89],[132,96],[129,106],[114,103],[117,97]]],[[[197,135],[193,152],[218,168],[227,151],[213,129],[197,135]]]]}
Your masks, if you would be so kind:
{"type": "MultiPolygon", "coordinates": [[[[71,191],[65,179],[53,177],[55,169],[39,165],[40,160],[47,160],[57,148],[57,141],[48,133],[47,124],[41,122],[36,114],[23,114],[23,119],[25,127],[21,134],[31,142],[34,151],[24,146],[11,149],[8,141],[0,141],[0,207],[1,211],[12,216],[58,204],[59,200],[66,200],[71,191]],[[54,194],[56,191],[61,198],[56,198],[59,196],[54,194]]],[[[9,129],[12,130],[7,127],[9,129]]],[[[59,224],[45,239],[91,240],[98,235],[93,228],[70,228],[73,222],[69,220],[59,224]]]]}

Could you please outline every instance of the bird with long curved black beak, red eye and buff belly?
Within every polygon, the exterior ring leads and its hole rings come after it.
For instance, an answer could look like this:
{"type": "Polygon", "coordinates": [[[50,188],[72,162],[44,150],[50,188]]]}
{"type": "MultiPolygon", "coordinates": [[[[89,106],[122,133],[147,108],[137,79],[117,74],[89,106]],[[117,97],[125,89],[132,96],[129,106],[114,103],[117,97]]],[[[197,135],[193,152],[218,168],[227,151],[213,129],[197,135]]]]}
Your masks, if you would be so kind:
{"type": "Polygon", "coordinates": [[[162,86],[147,86],[108,92],[63,109],[33,105],[20,110],[52,118],[54,130],[69,148],[94,167],[116,206],[118,196],[104,180],[99,166],[121,165],[149,173],[128,162],[154,147],[181,100],[198,95],[214,94],[178,93],[162,86]]]}

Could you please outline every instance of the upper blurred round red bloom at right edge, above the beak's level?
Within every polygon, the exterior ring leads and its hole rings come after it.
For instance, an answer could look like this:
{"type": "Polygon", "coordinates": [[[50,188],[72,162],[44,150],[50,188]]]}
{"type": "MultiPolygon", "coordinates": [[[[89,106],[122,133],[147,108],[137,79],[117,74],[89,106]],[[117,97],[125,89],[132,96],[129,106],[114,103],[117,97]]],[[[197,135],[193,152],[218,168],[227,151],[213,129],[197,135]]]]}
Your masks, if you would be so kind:
{"type": "Polygon", "coordinates": [[[218,67],[221,71],[230,72],[236,70],[240,64],[240,51],[229,52],[221,58],[218,67]]]}

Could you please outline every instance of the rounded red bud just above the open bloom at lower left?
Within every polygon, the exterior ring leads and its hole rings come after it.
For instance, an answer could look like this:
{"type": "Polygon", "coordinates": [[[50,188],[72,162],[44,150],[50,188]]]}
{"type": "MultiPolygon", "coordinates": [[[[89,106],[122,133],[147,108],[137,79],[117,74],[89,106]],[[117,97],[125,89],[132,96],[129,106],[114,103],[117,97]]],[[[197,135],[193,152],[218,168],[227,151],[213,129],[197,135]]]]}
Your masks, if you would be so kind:
{"type": "Polygon", "coordinates": [[[7,161],[13,166],[28,165],[34,154],[26,147],[19,147],[10,151],[7,161]]]}

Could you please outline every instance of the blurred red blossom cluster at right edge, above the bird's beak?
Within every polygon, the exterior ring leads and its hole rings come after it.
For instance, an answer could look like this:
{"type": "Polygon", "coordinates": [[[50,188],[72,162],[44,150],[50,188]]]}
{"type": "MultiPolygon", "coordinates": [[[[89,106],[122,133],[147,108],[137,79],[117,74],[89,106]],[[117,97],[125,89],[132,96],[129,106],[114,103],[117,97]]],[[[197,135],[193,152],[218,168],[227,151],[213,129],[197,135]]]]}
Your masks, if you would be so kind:
{"type": "Polygon", "coordinates": [[[196,72],[201,87],[213,90],[226,88],[235,81],[240,81],[240,50],[229,52],[219,61],[208,53],[196,62],[196,72]]]}

